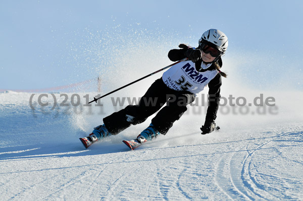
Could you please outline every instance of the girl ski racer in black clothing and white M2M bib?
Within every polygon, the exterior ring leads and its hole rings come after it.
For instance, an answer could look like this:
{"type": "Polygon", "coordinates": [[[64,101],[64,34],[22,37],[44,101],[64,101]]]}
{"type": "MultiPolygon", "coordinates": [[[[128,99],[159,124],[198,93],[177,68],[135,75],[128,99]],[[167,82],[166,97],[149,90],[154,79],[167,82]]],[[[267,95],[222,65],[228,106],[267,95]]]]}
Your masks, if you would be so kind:
{"type": "Polygon", "coordinates": [[[138,105],[128,105],[103,119],[104,124],[94,127],[87,141],[91,143],[111,135],[117,135],[130,125],[142,123],[166,103],[151,120],[150,125],[137,137],[138,143],[155,139],[160,133],[165,135],[187,110],[186,105],[192,103],[195,96],[206,85],[209,86],[209,106],[204,125],[200,128],[202,134],[214,131],[220,99],[221,76],[226,74],[219,69],[222,66],[221,56],[228,46],[226,35],[217,30],[206,31],[199,40],[199,46],[192,48],[180,44],[182,49],[172,49],[168,57],[172,61],[187,60],[173,65],[162,78],[156,80],[140,99],[138,105]]]}

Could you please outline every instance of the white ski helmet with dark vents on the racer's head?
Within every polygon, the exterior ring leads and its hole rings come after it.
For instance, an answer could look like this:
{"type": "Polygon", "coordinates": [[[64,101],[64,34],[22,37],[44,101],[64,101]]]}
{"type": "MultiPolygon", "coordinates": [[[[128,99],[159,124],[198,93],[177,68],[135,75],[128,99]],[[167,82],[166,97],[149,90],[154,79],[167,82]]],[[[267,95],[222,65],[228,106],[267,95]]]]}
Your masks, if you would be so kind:
{"type": "Polygon", "coordinates": [[[228,38],[222,31],[218,29],[210,29],[204,32],[201,36],[199,46],[210,43],[224,54],[228,47],[228,38]]]}

